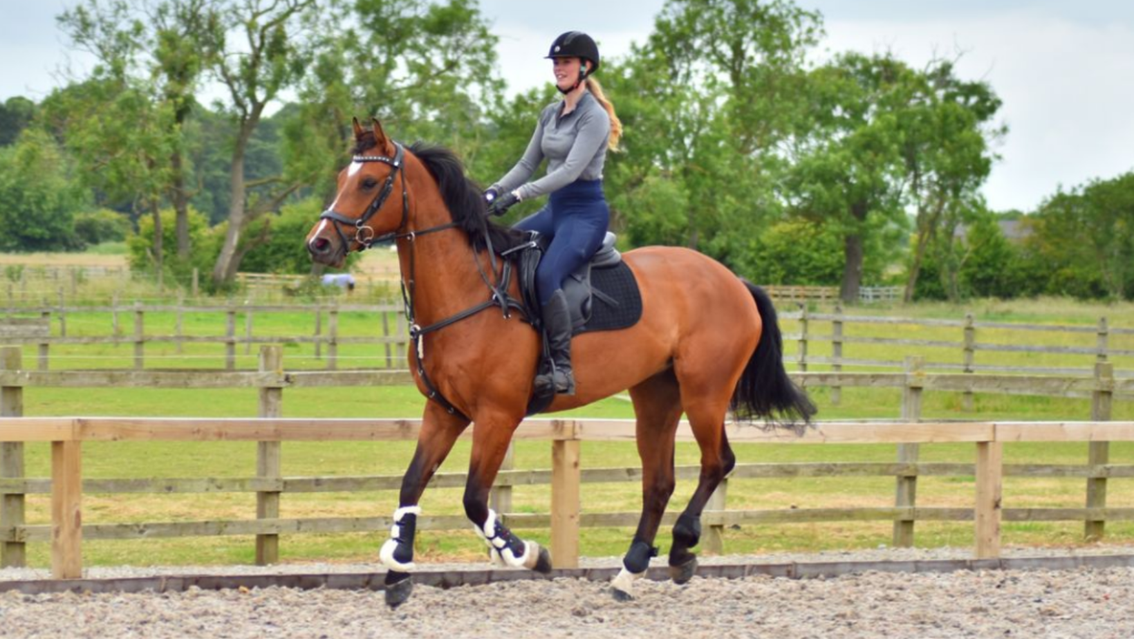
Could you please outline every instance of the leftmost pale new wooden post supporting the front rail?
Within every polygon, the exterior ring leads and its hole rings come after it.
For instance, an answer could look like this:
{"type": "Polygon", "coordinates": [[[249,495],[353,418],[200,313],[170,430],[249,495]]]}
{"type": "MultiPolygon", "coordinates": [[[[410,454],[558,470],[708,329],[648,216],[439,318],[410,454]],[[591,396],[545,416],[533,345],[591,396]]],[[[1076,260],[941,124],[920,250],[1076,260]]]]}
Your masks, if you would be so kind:
{"type": "Polygon", "coordinates": [[[51,443],[51,575],[83,577],[83,448],[51,443]]]}

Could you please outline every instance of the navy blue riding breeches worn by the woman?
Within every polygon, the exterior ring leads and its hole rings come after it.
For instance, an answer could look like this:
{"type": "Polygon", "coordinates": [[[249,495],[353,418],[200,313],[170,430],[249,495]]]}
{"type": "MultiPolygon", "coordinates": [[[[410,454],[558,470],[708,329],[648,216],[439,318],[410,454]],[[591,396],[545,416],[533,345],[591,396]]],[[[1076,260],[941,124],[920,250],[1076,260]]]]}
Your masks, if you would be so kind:
{"type": "Polygon", "coordinates": [[[562,287],[602,246],[610,226],[610,209],[602,194],[602,180],[576,180],[552,193],[548,205],[516,222],[516,228],[551,237],[548,252],[535,270],[540,303],[562,287]]]}

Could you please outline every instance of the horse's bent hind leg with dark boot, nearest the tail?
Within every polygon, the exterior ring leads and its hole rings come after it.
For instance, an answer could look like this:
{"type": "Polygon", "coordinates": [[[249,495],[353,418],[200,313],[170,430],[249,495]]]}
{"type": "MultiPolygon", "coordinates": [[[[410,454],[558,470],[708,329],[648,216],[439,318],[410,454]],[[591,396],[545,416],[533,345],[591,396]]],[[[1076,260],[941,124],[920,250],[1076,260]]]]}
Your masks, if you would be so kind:
{"type": "MultiPolygon", "coordinates": [[[[735,386],[735,384],[733,385],[735,386]]],[[[733,386],[727,386],[731,390],[733,386]]],[[[697,557],[689,552],[701,541],[701,513],[717,487],[736,465],[736,456],[725,436],[725,415],[729,395],[720,389],[687,388],[682,379],[682,400],[693,436],[701,447],[701,476],[689,504],[674,526],[674,545],[669,549],[669,573],[677,583],[693,578],[697,557]]]]}

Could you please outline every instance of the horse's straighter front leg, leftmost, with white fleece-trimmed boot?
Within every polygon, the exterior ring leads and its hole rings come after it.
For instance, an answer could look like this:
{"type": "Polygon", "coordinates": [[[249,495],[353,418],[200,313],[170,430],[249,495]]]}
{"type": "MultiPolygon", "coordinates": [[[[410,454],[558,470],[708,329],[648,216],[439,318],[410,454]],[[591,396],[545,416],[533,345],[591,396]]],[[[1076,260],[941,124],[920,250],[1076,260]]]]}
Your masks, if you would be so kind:
{"type": "Polygon", "coordinates": [[[451,415],[433,402],[426,403],[422,430],[417,436],[417,449],[409,462],[409,470],[401,478],[401,495],[398,498],[398,510],[393,512],[390,538],[379,552],[379,558],[387,567],[386,603],[390,607],[405,603],[413,590],[409,573],[414,570],[414,533],[417,515],[421,514],[417,502],[466,427],[467,419],[451,415]]]}

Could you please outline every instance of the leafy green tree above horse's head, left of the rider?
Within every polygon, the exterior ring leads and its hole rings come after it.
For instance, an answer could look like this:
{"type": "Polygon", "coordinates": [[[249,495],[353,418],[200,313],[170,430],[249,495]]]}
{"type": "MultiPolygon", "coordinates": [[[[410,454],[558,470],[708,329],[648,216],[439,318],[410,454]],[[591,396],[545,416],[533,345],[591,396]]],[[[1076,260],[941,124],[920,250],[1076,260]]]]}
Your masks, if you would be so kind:
{"type": "Polygon", "coordinates": [[[538,110],[526,113],[523,143],[508,151],[490,121],[507,108],[497,37],[474,0],[357,0],[324,11],[315,31],[302,103],[282,138],[288,161],[321,177],[318,194],[333,193],[353,117],[378,117],[405,142],[443,144],[484,182],[527,142],[538,110]]]}

